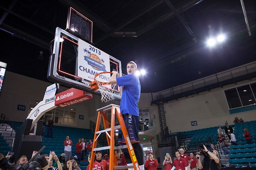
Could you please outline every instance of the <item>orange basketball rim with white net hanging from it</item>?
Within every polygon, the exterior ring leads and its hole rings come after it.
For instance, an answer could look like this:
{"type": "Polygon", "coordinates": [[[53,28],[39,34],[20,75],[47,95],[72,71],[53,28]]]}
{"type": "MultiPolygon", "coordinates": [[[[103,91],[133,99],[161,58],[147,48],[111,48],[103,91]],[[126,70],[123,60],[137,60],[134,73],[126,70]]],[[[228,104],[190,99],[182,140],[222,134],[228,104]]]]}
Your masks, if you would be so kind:
{"type": "Polygon", "coordinates": [[[107,102],[114,100],[115,97],[113,96],[113,91],[116,84],[111,84],[109,82],[102,82],[100,81],[99,75],[102,74],[112,74],[112,72],[101,72],[95,75],[94,81],[96,82],[97,86],[99,87],[99,91],[102,95],[101,101],[107,102]]]}

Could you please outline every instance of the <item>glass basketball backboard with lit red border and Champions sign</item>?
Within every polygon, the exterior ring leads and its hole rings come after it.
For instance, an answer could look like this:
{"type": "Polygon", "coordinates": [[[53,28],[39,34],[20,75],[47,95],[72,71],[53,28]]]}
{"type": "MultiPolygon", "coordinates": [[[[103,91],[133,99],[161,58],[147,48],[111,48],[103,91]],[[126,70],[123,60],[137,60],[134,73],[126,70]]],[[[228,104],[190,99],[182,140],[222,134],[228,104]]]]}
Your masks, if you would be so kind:
{"type": "MultiPolygon", "coordinates": [[[[48,76],[50,81],[81,89],[94,94],[90,82],[100,72],[117,71],[122,75],[121,61],[63,29],[56,28],[53,52],[50,56],[48,76]]],[[[102,81],[108,81],[110,75],[102,81]]],[[[115,99],[121,99],[122,87],[114,89],[115,99]]]]}

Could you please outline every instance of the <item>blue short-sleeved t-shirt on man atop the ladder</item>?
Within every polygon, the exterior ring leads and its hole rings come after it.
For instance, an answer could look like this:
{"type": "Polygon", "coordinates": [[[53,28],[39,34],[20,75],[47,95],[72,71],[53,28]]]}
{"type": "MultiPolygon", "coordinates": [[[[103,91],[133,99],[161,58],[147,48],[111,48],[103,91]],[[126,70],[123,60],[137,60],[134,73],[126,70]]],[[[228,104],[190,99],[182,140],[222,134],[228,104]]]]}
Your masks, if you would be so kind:
{"type": "Polygon", "coordinates": [[[136,75],[130,74],[116,78],[118,86],[123,86],[120,103],[122,114],[139,116],[138,102],[140,99],[140,80],[136,75]]]}

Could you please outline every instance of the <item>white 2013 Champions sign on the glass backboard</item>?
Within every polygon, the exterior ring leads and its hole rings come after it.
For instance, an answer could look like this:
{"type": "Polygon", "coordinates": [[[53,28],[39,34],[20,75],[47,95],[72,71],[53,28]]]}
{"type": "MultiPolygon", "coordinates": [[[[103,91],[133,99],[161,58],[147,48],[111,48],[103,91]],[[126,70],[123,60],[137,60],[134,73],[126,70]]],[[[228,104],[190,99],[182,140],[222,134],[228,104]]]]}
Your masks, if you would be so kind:
{"type": "MultiPolygon", "coordinates": [[[[109,55],[89,43],[78,40],[78,76],[87,81],[94,81],[94,76],[100,72],[110,72],[109,55]]],[[[100,77],[108,82],[110,74],[100,77]]]]}

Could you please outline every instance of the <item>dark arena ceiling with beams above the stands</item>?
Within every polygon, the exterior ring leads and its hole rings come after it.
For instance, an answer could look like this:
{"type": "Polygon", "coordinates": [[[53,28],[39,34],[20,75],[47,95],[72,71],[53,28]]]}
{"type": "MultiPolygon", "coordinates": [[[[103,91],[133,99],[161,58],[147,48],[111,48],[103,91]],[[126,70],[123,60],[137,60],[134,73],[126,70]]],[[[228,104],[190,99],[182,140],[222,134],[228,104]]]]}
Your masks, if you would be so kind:
{"type": "Polygon", "coordinates": [[[147,71],[142,92],[157,92],[255,61],[256,1],[244,5],[251,36],[240,0],[2,0],[0,61],[47,81],[48,44],[56,27],[66,29],[72,6],[93,20],[95,46],[121,60],[123,70],[136,61],[147,71]],[[209,49],[207,37],[221,32],[227,40],[209,49]]]}

